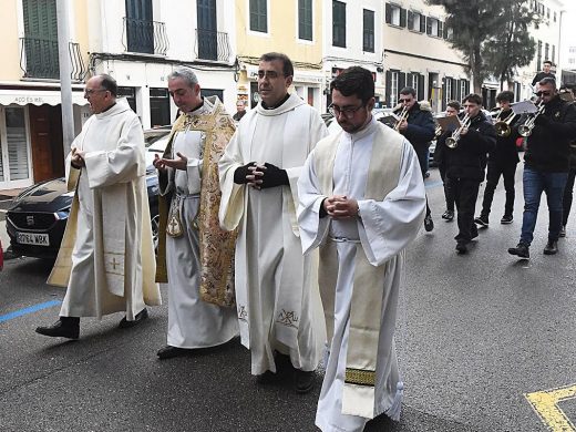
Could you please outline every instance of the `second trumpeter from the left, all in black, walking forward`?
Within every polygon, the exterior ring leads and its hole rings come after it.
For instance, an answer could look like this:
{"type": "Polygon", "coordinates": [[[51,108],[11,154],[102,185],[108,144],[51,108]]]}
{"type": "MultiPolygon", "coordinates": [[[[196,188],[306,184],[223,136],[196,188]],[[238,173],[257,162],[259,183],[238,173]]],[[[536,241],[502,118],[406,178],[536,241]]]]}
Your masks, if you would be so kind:
{"type": "MultiPolygon", "coordinates": [[[[446,177],[451,182],[457,209],[459,234],[456,251],[467,253],[467,244],[477,237],[474,224],[474,208],[479,196],[480,184],[484,181],[484,160],[486,153],[496,145],[494,126],[482,113],[482,97],[469,94],[463,101],[464,113],[470,117],[470,125],[462,127],[454,147],[443,148],[446,164],[446,177]]],[[[453,133],[446,132],[439,138],[438,145],[446,145],[446,138],[453,133]]]]}

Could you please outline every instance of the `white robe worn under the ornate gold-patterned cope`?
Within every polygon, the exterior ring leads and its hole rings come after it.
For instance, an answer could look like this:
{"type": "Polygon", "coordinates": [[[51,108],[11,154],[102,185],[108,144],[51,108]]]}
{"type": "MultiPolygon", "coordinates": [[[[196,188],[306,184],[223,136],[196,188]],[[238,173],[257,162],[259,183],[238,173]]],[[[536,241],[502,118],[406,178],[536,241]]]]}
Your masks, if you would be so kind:
{"type": "MultiPolygon", "coordinates": [[[[207,97],[197,110],[188,113],[209,115],[213,105],[207,97]]],[[[205,134],[185,130],[173,136],[172,150],[187,157],[187,168],[167,169],[165,183],[161,176],[161,194],[173,193],[178,206],[184,234],[166,236],[168,272],[168,336],[167,343],[178,348],[207,348],[227,342],[238,335],[238,319],[234,308],[208,304],[200,298],[200,255],[198,228],[194,220],[199,209],[202,163],[205,134]]]]}

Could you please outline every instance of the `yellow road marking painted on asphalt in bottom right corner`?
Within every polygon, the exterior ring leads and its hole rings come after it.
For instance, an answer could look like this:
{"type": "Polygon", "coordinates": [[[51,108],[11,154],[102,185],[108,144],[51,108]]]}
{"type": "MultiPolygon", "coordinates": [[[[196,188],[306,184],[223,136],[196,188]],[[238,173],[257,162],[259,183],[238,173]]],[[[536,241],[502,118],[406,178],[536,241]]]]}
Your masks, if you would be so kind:
{"type": "Polygon", "coordinates": [[[576,398],[576,384],[525,393],[524,397],[552,432],[574,432],[576,428],[558,407],[558,402],[576,398]]]}

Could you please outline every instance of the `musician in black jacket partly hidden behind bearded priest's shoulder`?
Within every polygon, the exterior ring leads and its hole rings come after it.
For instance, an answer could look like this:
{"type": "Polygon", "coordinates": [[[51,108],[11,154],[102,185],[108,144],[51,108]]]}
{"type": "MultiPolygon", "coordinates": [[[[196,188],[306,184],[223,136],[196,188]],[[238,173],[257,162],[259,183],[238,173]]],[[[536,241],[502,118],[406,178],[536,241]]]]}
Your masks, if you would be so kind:
{"type": "MultiPolygon", "coordinates": [[[[422,178],[425,178],[428,148],[434,138],[435,124],[430,110],[423,110],[416,102],[416,91],[412,88],[403,88],[400,91],[400,103],[408,110],[408,117],[398,125],[398,132],[407,137],[416,151],[418,162],[422,171],[422,178]]],[[[430,214],[426,198],[426,216],[424,218],[424,229],[434,229],[434,222],[430,214]]]]}

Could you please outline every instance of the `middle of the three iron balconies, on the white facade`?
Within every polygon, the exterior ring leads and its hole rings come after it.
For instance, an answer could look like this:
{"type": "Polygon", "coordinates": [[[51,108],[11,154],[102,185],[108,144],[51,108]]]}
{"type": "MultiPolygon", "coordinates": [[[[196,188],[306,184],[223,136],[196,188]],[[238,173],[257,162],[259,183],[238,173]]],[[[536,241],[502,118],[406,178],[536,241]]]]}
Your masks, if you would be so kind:
{"type": "Polygon", "coordinates": [[[122,44],[128,52],[166,55],[168,51],[166,24],[124,17],[122,44]]]}

